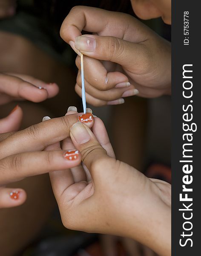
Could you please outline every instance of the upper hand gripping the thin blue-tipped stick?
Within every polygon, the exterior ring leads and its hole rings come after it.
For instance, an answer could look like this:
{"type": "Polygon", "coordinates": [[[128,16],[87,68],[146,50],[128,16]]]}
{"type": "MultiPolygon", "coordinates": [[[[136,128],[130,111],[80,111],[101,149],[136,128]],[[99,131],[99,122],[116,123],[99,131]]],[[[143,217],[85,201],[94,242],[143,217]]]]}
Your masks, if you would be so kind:
{"type": "MultiPolygon", "coordinates": [[[[120,104],[122,97],[138,91],[143,97],[170,93],[170,44],[134,17],[76,6],[63,21],[60,35],[78,54],[85,55],[86,99],[90,104],[120,104]],[[82,30],[93,35],[81,36],[82,30]]],[[[75,90],[81,96],[79,56],[76,65],[75,90]]]]}

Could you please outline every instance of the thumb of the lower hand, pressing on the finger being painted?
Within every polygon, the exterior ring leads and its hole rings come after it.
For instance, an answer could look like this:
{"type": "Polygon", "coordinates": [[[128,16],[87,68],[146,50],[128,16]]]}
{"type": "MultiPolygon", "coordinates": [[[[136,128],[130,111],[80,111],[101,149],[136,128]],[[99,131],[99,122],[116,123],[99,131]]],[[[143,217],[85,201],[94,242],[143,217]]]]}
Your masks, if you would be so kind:
{"type": "Polygon", "coordinates": [[[92,177],[95,175],[98,163],[110,159],[106,150],[100,145],[90,128],[81,122],[75,123],[70,129],[70,137],[82,155],[82,161],[89,169],[92,177]]]}

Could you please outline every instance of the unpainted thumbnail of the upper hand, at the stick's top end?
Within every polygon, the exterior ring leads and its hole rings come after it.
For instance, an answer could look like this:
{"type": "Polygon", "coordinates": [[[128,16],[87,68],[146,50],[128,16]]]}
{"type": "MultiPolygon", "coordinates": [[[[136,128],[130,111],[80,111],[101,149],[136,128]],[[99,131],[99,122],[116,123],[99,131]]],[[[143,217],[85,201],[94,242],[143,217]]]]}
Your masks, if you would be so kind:
{"type": "Polygon", "coordinates": [[[94,38],[81,35],[75,38],[75,48],[84,52],[93,52],[96,48],[96,41],[94,38]]]}

